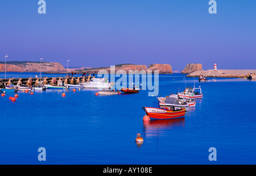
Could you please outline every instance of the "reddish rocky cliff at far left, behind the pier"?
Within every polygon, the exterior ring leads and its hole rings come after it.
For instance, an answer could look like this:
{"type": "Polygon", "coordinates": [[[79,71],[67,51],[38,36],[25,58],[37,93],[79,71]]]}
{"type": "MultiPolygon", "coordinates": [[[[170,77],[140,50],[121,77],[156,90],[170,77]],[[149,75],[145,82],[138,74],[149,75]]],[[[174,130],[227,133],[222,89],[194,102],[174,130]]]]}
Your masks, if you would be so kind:
{"type": "MultiPolygon", "coordinates": [[[[0,71],[5,72],[5,64],[0,64],[0,71]]],[[[39,72],[39,62],[14,62],[6,63],[6,72],[39,72]]],[[[57,62],[41,62],[41,72],[61,72],[65,71],[63,65],[57,62]]]]}

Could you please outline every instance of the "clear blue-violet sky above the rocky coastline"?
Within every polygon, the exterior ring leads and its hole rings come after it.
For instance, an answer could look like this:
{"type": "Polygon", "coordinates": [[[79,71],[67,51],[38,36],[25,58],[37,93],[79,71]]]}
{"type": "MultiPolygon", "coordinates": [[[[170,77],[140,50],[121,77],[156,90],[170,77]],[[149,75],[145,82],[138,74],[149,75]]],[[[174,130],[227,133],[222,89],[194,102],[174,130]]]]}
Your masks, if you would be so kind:
{"type": "Polygon", "coordinates": [[[203,69],[256,69],[256,1],[0,1],[0,60],[60,62],[70,67],[187,63],[203,69]]]}

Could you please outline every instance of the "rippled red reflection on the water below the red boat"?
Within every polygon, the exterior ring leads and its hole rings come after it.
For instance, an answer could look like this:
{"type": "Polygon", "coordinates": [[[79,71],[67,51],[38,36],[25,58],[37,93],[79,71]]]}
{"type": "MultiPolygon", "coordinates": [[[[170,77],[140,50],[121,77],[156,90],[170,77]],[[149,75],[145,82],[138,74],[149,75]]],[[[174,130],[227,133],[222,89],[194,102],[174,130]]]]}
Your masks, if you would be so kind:
{"type": "Polygon", "coordinates": [[[178,119],[166,119],[156,121],[144,121],[143,127],[146,137],[162,136],[166,130],[170,130],[174,127],[183,127],[185,125],[185,118],[178,119]]]}

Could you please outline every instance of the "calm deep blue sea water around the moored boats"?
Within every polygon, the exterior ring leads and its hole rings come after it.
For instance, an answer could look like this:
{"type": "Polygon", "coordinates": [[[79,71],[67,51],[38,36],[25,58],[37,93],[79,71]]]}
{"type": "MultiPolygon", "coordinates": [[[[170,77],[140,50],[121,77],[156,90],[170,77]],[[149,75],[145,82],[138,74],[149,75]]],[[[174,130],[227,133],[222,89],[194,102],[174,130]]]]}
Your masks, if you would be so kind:
{"type": "Polygon", "coordinates": [[[142,107],[156,102],[148,90],[117,96],[96,96],[92,89],[18,92],[16,102],[6,93],[0,97],[0,164],[256,164],[256,81],[199,83],[184,76],[159,75],[159,96],[202,88],[203,99],[175,121],[143,123],[142,107]],[[135,143],[137,133],[142,145],[135,143]],[[40,147],[46,161],[38,160],[40,147]],[[209,161],[210,147],[217,161],[209,161]]]}

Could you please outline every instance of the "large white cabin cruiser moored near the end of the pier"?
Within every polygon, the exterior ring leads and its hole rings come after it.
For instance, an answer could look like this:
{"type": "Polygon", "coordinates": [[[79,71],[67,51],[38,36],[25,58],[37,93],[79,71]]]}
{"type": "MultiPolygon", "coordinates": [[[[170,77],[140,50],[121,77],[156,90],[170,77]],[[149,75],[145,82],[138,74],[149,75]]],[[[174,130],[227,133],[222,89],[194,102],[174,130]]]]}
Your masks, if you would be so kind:
{"type": "Polygon", "coordinates": [[[113,83],[109,83],[109,79],[106,78],[92,78],[90,81],[80,83],[83,88],[94,89],[110,89],[113,87],[113,83]]]}

